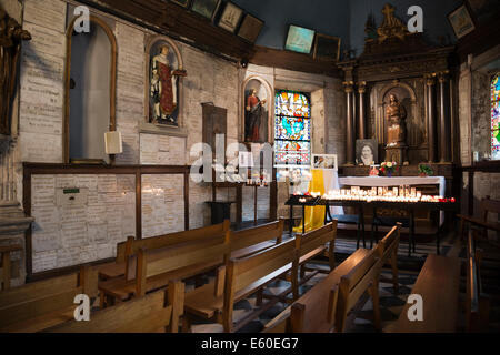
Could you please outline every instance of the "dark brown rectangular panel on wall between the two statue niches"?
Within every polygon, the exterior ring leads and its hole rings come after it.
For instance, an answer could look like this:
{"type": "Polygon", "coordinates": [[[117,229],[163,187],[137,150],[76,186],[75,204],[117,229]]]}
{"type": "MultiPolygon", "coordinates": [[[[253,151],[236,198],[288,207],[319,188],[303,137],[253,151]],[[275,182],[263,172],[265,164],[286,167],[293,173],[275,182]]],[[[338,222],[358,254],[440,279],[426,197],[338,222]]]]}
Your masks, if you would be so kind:
{"type": "MultiPolygon", "coordinates": [[[[210,103],[202,104],[203,115],[203,143],[212,149],[213,154],[217,152],[217,135],[228,133],[228,110],[214,106],[210,103]]],[[[227,140],[224,139],[224,153],[227,140]]]]}

